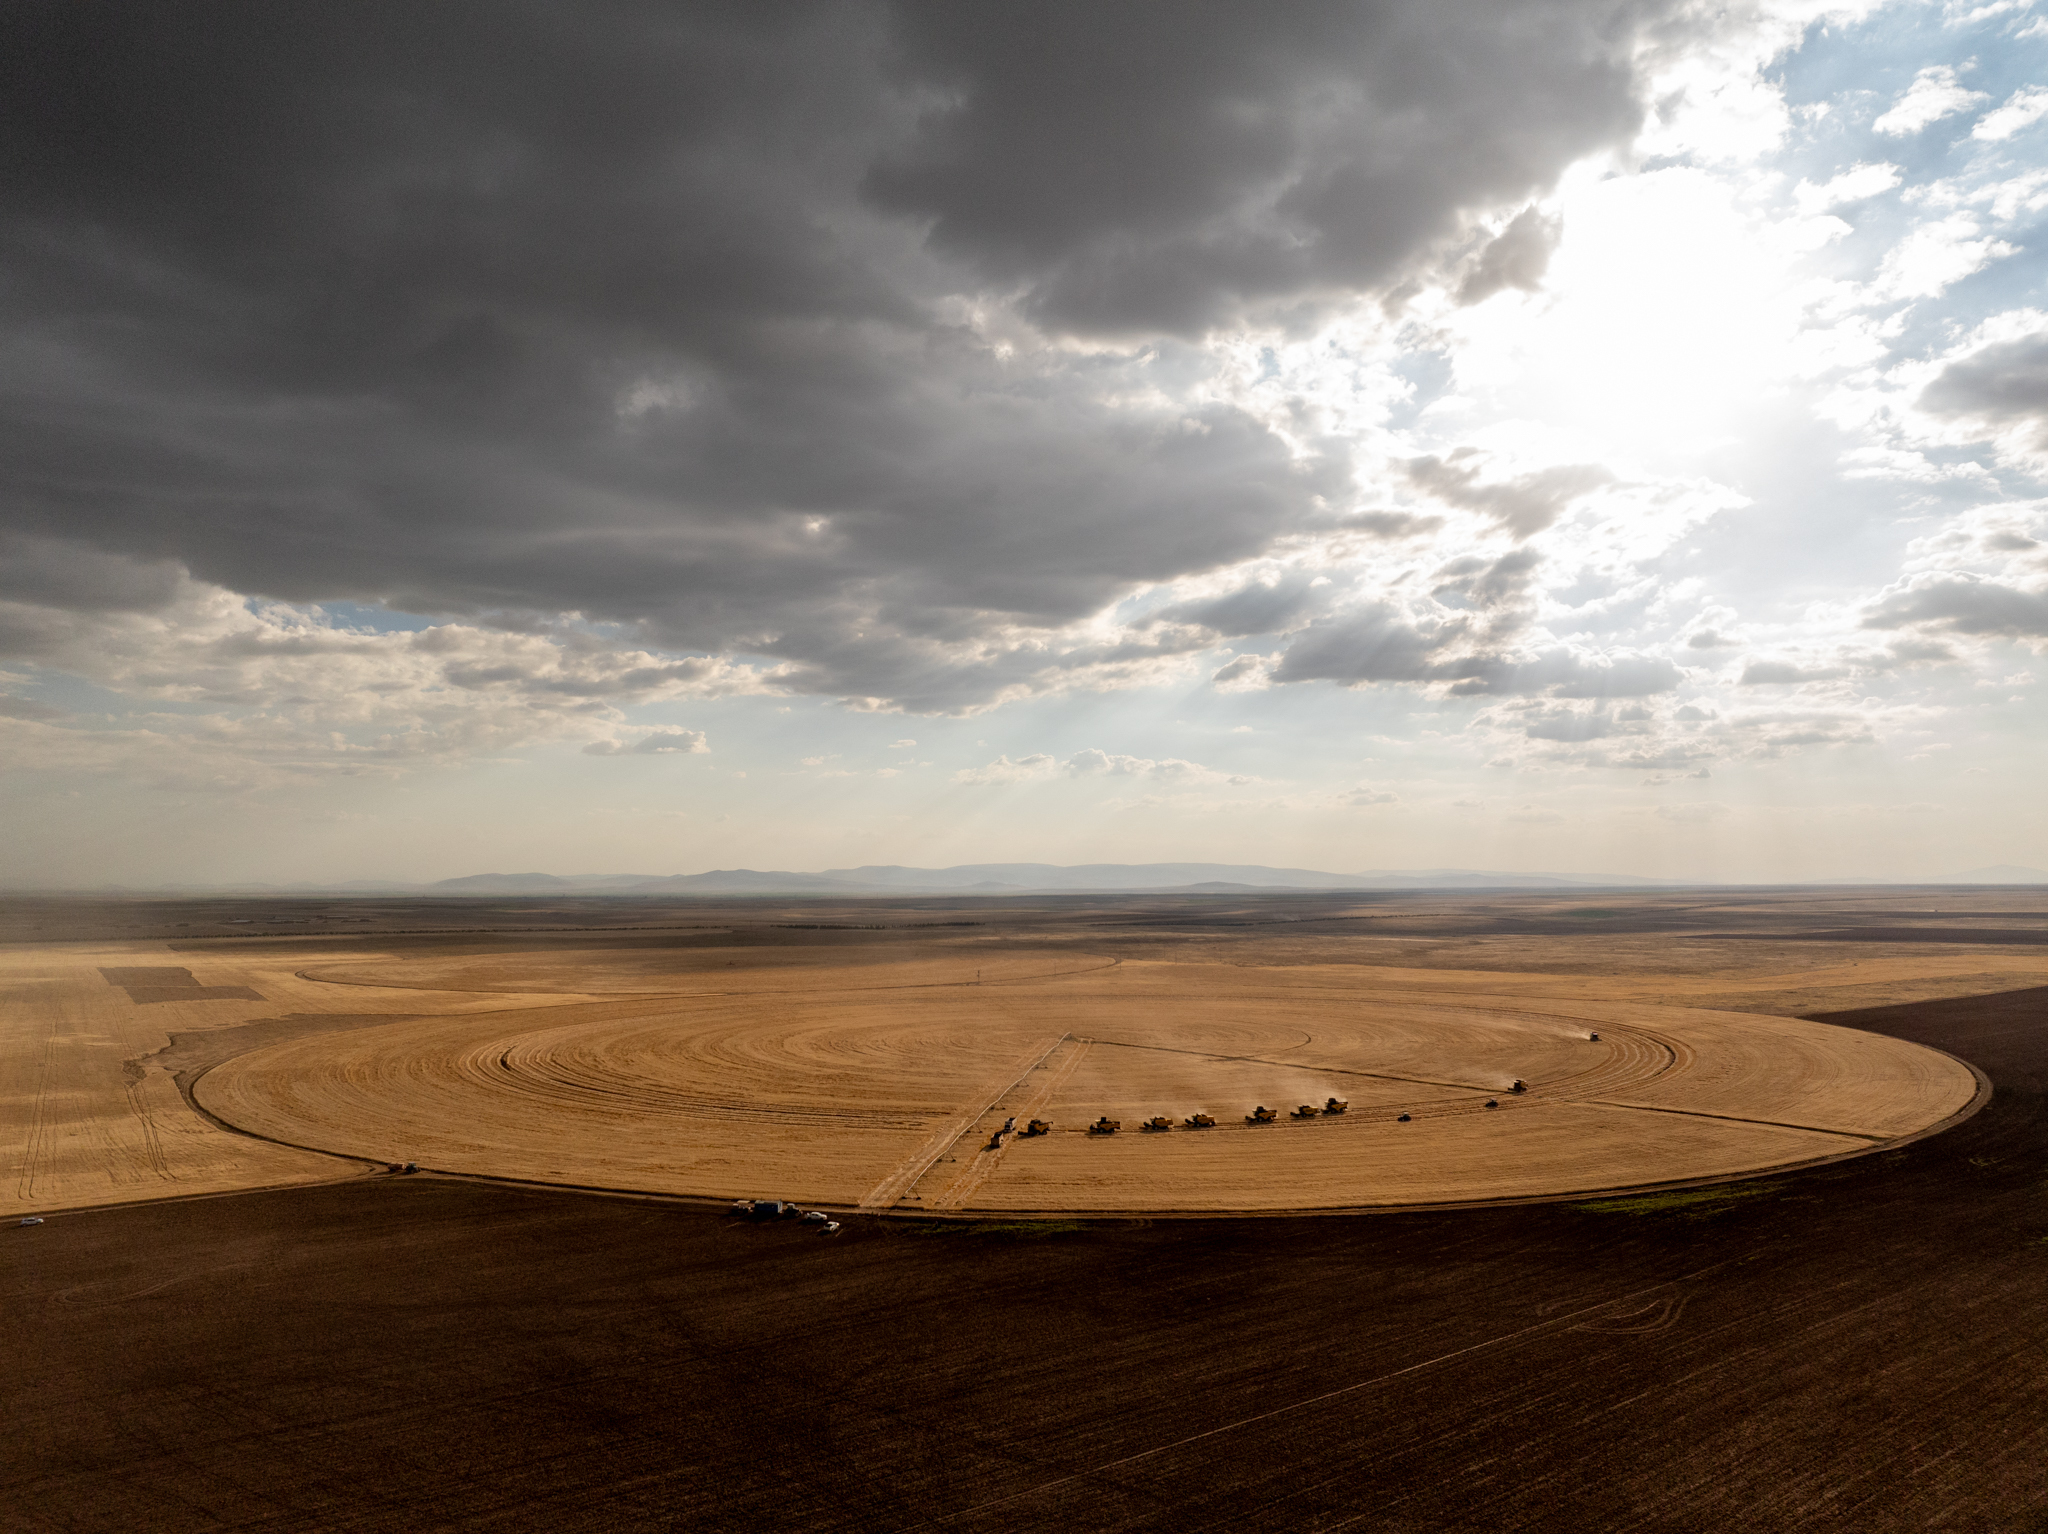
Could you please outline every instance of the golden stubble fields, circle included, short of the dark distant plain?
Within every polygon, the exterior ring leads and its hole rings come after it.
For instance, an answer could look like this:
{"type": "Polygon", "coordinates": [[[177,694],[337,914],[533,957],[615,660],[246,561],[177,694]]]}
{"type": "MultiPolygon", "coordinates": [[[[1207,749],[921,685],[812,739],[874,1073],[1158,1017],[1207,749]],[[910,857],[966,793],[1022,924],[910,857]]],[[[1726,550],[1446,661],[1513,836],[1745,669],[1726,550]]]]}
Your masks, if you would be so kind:
{"type": "Polygon", "coordinates": [[[1417,967],[1397,946],[1360,963],[1370,944],[1257,965],[1276,950],[1255,940],[1161,961],[1143,944],[872,936],[6,950],[0,1208],[408,1159],[934,1212],[1384,1208],[1743,1176],[1921,1133],[1978,1092],[1933,1051],[1769,1016],[1772,995],[2048,967],[1866,944],[1645,973],[1614,938],[1575,950],[1606,954],[1585,967],[1599,973],[1526,973],[1417,967]],[[1327,1098],[1348,1112],[1290,1116],[1327,1098]],[[1280,1120],[1245,1124],[1255,1104],[1280,1120]],[[1188,1128],[1198,1112],[1214,1128],[1188,1128]],[[1104,1114],[1122,1131],[1087,1135],[1104,1114]],[[1145,1133],[1155,1114],[1174,1126],[1145,1133]],[[997,1139],[1008,1118],[1053,1133],[997,1139]]]}

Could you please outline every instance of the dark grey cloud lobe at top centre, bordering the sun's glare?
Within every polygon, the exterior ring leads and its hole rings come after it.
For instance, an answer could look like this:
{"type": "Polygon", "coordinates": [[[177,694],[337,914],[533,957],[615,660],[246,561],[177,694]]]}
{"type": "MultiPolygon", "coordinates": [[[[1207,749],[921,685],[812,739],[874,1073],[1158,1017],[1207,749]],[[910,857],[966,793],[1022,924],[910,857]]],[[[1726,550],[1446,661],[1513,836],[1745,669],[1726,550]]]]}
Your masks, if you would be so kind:
{"type": "MultiPolygon", "coordinates": [[[[1087,332],[1356,293],[1640,117],[1620,8],[1237,0],[905,12],[946,100],[868,186],[1087,332]]],[[[1530,258],[1516,262],[1524,270],[1530,258]]]]}

